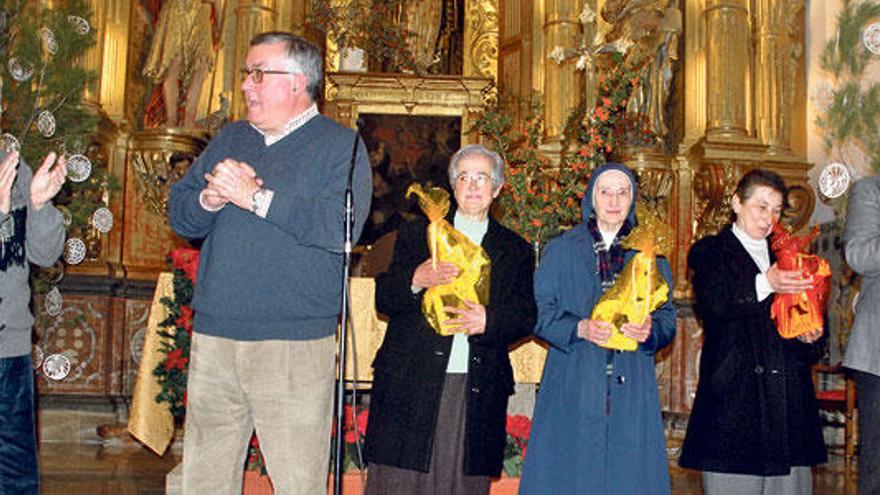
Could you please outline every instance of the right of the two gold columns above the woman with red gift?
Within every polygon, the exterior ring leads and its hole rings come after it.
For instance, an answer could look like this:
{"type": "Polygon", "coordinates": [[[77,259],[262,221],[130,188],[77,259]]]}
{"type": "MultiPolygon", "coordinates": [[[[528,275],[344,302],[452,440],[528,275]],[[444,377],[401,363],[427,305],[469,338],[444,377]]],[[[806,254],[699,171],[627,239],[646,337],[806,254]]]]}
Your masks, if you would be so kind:
{"type": "Polygon", "coordinates": [[[791,152],[791,131],[800,41],[792,39],[803,0],[758,0],[755,86],[758,137],[770,153],[791,152]]]}

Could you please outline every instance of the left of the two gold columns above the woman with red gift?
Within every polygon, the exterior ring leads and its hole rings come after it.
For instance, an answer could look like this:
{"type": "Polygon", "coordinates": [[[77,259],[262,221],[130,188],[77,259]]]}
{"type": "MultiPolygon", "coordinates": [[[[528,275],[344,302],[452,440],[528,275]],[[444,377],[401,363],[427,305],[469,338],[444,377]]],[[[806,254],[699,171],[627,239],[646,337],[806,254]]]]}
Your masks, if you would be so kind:
{"type": "Polygon", "coordinates": [[[749,135],[748,0],[706,2],[707,137],[749,135]]]}

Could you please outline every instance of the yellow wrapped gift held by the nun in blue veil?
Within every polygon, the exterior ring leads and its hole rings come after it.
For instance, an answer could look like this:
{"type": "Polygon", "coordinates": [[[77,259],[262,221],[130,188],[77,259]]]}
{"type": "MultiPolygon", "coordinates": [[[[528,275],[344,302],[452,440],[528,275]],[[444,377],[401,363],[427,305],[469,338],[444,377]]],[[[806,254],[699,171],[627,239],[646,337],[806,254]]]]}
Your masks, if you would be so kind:
{"type": "Polygon", "coordinates": [[[636,216],[639,224],[621,246],[638,253],[624,265],[590,316],[613,327],[611,338],[602,346],[608,349],[636,350],[638,342],[623,335],[620,327],[630,322],[641,325],[669,299],[669,286],[657,268],[657,256],[668,256],[672,251],[672,229],[642,205],[636,206],[636,216]]]}

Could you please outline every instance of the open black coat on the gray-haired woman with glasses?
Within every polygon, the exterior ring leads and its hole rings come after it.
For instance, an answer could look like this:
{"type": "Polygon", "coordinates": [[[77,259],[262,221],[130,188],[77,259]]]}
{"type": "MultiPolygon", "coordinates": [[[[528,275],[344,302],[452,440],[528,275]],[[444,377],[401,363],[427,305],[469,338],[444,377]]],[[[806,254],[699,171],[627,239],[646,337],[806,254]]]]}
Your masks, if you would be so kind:
{"type": "MultiPolygon", "coordinates": [[[[451,215],[450,215],[451,217],[451,215]]],[[[376,278],[376,308],[389,316],[373,361],[367,461],[427,472],[452,337],[434,332],[412,292],[416,267],[428,259],[427,221],[401,227],[388,272],[376,278]]],[[[518,235],[489,219],[482,242],[491,260],[486,331],[468,338],[464,472],[498,476],[506,442],[507,401],[513,393],[508,348],[535,325],[534,258],[518,235]]]]}

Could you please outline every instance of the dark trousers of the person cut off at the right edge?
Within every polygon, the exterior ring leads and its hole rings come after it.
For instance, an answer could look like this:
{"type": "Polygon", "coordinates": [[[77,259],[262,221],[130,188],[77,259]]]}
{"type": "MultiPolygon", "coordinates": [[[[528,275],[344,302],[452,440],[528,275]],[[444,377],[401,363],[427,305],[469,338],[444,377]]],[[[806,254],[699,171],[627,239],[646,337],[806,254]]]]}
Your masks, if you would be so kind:
{"type": "Polygon", "coordinates": [[[880,376],[854,372],[859,401],[859,493],[880,495],[880,376]]]}

